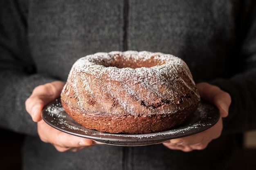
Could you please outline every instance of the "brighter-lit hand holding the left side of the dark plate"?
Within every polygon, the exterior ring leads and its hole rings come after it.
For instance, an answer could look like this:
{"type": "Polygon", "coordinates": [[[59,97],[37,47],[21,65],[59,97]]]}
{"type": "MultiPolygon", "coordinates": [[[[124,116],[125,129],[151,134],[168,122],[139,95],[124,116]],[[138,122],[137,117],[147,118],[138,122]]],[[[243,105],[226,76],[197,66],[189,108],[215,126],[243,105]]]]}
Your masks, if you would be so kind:
{"type": "Polygon", "coordinates": [[[45,143],[51,143],[59,152],[67,150],[76,152],[84,148],[90,148],[95,144],[100,144],[90,139],[61,132],[46,124],[42,119],[41,111],[43,107],[60,96],[64,85],[64,82],[56,81],[37,86],[26,100],[26,110],[32,120],[37,122],[37,131],[40,139],[45,143]]]}

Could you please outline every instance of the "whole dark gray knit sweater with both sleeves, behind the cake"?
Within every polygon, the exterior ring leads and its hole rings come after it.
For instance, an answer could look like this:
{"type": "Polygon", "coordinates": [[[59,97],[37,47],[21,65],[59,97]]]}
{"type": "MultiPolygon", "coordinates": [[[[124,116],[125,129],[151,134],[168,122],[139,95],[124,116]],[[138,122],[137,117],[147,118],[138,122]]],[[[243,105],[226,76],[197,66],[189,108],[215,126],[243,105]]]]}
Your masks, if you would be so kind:
{"type": "Polygon", "coordinates": [[[256,129],[255,101],[254,0],[0,1],[0,126],[27,136],[24,170],[225,169],[234,134],[256,129]],[[32,90],[65,82],[80,57],[126,50],[181,57],[195,82],[227,91],[232,104],[223,135],[189,153],[162,144],[58,152],[40,141],[25,110],[32,90]]]}

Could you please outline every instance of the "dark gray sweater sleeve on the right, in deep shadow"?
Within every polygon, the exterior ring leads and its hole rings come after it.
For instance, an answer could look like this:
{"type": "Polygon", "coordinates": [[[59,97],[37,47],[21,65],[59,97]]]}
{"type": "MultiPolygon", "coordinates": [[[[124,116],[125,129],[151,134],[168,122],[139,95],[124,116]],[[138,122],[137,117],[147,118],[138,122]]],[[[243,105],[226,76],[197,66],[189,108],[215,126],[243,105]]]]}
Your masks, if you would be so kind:
{"type": "Polygon", "coordinates": [[[243,2],[237,18],[237,48],[229,60],[229,68],[236,74],[211,81],[232,99],[229,116],[223,119],[223,133],[256,129],[256,2],[243,2]]]}

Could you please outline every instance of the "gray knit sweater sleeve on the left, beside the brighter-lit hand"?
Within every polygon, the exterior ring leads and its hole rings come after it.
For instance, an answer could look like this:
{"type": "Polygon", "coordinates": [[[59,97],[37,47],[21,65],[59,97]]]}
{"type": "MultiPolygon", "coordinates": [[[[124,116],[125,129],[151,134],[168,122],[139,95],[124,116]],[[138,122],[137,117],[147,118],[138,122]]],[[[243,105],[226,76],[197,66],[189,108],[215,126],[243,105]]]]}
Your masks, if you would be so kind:
{"type": "Polygon", "coordinates": [[[36,71],[29,52],[24,3],[0,1],[0,127],[37,135],[25,101],[36,86],[55,79],[36,71]]]}

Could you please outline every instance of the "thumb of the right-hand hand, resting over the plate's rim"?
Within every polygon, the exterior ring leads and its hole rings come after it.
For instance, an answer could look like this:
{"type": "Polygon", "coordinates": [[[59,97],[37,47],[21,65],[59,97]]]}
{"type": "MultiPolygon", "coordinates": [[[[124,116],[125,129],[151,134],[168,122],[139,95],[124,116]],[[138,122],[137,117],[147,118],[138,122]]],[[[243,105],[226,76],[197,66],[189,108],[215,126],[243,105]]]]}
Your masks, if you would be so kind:
{"type": "Polygon", "coordinates": [[[221,117],[227,117],[231,104],[229,93],[222,91],[218,86],[205,82],[197,84],[197,87],[200,96],[214,104],[220,110],[221,117]]]}

